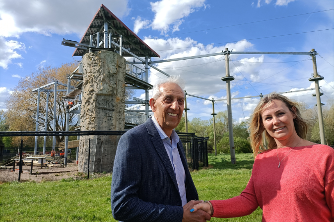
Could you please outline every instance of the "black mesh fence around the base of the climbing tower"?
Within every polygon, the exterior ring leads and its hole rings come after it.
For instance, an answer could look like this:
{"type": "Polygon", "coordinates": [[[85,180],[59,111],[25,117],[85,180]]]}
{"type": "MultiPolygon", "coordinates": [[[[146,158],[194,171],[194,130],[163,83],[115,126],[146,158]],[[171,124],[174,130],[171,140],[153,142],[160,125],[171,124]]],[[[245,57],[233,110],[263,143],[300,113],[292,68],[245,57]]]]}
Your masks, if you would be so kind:
{"type": "MultiPolygon", "coordinates": [[[[124,133],[0,132],[1,137],[11,137],[19,142],[19,145],[0,146],[0,181],[89,179],[111,173],[117,145],[124,133]],[[54,139],[57,136],[64,140],[57,142],[54,139]]],[[[189,168],[208,166],[208,138],[198,138],[192,133],[178,132],[178,135],[183,143],[189,168]]]]}

